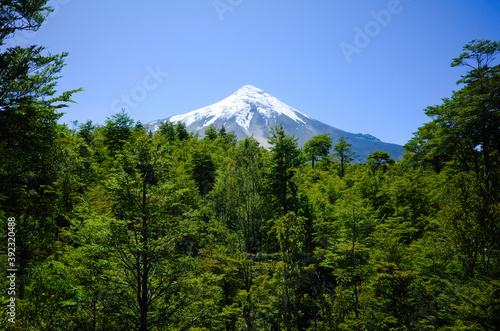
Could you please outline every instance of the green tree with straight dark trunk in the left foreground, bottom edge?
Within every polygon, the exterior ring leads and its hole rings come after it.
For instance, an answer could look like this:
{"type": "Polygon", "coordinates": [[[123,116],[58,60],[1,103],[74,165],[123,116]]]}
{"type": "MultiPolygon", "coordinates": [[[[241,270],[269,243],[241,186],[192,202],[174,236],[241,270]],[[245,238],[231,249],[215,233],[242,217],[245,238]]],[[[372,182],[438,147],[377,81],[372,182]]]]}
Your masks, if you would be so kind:
{"type": "MultiPolygon", "coordinates": [[[[178,247],[186,231],[182,215],[187,206],[181,195],[190,184],[184,183],[184,190],[173,185],[165,150],[145,132],[137,134],[117,156],[106,183],[115,215],[110,224],[112,261],[118,269],[116,299],[108,302],[109,310],[122,317],[126,328],[177,323],[182,328],[196,322],[185,314],[206,290],[196,289],[200,284],[190,273],[193,260],[178,247]]],[[[203,312],[201,306],[199,310],[203,312]]]]}

